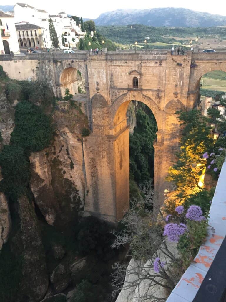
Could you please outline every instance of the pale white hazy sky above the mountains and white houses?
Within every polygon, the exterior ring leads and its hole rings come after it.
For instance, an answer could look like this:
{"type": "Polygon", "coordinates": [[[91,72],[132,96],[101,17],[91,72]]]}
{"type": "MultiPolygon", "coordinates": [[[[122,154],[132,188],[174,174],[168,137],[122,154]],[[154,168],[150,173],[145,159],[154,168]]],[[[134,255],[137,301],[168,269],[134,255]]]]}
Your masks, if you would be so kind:
{"type": "MultiPolygon", "coordinates": [[[[58,13],[60,11],[65,11],[68,14],[75,14],[77,16],[82,16],[83,18],[97,18],[101,13],[105,11],[113,11],[115,9],[147,9],[147,8],[158,8],[158,7],[183,7],[189,8],[195,11],[206,11],[211,14],[221,14],[226,16],[226,4],[225,0],[214,0],[214,1],[166,1],[156,2],[152,4],[151,1],[143,0],[141,1],[131,1],[131,0],[77,0],[77,1],[62,1],[62,0],[25,0],[23,1],[31,6],[38,9],[45,9],[49,13],[58,13]]],[[[11,2],[12,3],[12,2],[11,2]]],[[[1,0],[2,5],[8,5],[7,1],[1,0]],[[2,3],[3,2],[3,3],[2,3]]],[[[12,3],[13,5],[15,4],[12,3]]]]}

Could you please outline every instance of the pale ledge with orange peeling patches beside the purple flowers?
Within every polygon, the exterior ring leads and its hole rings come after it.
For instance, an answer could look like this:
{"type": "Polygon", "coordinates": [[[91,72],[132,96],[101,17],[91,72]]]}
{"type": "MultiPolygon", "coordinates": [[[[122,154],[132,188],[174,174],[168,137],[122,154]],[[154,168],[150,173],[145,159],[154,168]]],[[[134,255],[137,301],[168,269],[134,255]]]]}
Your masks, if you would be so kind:
{"type": "Polygon", "coordinates": [[[208,236],[166,302],[192,302],[226,235],[226,161],[209,210],[208,236]]]}

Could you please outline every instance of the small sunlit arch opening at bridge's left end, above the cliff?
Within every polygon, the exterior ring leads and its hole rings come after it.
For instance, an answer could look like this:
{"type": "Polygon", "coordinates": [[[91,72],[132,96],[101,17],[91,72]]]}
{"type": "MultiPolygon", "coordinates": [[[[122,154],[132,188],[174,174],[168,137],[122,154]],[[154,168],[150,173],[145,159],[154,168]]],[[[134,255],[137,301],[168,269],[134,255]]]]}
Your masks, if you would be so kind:
{"type": "Polygon", "coordinates": [[[85,79],[82,73],[74,67],[67,67],[63,70],[60,76],[60,84],[62,97],[65,95],[65,88],[68,88],[73,96],[86,93],[85,79]]]}

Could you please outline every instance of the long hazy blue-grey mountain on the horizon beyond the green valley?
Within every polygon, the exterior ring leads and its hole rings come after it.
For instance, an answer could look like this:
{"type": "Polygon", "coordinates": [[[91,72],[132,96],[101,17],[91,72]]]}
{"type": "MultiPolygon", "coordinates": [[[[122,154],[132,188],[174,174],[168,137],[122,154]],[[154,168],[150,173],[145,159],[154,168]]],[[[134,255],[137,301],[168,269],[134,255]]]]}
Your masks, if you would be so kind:
{"type": "Polygon", "coordinates": [[[226,25],[226,16],[192,11],[186,8],[167,7],[145,10],[117,9],[101,14],[94,21],[96,25],[143,24],[159,27],[210,27],[226,25]]]}

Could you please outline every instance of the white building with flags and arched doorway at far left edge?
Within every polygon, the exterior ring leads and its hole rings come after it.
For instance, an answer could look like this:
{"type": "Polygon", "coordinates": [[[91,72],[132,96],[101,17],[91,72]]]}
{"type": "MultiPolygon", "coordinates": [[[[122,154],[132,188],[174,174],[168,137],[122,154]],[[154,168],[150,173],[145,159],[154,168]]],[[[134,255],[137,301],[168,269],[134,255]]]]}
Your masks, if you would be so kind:
{"type": "Polygon", "coordinates": [[[0,54],[20,53],[14,17],[0,11],[0,54]]]}

